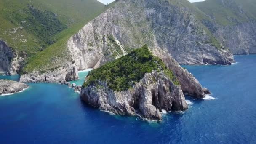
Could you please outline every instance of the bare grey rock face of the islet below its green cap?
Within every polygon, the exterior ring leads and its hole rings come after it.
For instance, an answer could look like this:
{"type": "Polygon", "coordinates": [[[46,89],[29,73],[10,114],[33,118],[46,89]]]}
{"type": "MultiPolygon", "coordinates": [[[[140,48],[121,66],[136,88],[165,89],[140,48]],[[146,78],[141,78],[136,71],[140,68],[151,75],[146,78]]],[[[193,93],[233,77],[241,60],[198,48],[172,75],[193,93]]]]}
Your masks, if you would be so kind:
{"type": "Polygon", "coordinates": [[[82,88],[80,97],[86,103],[119,115],[140,115],[161,120],[162,110],[183,111],[188,108],[181,86],[175,85],[163,72],[147,73],[127,91],[113,91],[107,83],[82,88]]]}

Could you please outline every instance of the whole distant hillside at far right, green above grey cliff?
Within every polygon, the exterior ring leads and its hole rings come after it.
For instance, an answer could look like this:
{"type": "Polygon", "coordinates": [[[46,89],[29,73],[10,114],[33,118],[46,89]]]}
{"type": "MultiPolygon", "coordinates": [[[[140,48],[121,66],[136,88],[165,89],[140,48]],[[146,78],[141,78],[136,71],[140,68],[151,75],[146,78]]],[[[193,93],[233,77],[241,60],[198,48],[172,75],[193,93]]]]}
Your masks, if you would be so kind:
{"type": "Polygon", "coordinates": [[[256,53],[256,1],[206,0],[193,3],[211,17],[203,23],[234,54],[256,53]]]}

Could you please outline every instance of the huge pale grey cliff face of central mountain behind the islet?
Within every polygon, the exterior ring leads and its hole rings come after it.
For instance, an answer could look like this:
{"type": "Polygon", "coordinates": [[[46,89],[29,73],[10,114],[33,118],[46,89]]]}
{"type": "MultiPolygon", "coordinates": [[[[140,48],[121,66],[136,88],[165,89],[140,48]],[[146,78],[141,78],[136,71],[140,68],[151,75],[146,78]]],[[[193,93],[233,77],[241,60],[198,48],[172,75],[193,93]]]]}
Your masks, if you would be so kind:
{"type": "Polygon", "coordinates": [[[78,69],[98,67],[145,43],[165,49],[180,64],[231,64],[232,54],[217,48],[179,1],[119,0],[68,41],[78,69]]]}

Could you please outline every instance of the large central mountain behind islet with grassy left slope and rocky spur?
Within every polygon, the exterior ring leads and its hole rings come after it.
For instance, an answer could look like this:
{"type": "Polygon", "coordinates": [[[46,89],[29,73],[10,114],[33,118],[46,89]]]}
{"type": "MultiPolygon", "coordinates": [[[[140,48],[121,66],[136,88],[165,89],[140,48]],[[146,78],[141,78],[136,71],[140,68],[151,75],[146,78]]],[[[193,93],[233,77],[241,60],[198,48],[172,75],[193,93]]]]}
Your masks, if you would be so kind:
{"type": "Polygon", "coordinates": [[[67,41],[30,58],[21,81],[77,78],[77,70],[98,68],[147,44],[169,68],[177,69],[175,75],[182,81],[184,92],[203,97],[198,81],[171,55],[181,64],[231,64],[234,59],[181,4],[179,0],[174,4],[165,0],[119,0],[67,41]]]}

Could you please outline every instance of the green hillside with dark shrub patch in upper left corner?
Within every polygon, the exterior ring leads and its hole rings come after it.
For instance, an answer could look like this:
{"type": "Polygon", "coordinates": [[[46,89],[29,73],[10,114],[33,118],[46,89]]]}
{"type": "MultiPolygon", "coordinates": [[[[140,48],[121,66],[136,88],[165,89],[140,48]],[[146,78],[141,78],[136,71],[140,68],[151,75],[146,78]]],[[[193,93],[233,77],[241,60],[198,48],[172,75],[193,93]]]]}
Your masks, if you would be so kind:
{"type": "Polygon", "coordinates": [[[0,39],[32,56],[105,9],[96,0],[1,0],[0,39]]]}

